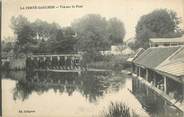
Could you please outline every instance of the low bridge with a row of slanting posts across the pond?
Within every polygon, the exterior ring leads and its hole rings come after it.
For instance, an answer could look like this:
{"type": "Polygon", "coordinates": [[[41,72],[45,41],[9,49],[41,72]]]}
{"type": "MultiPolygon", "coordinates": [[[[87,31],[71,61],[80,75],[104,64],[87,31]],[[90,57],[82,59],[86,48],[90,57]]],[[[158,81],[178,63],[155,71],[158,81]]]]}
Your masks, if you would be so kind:
{"type": "Polygon", "coordinates": [[[26,57],[26,68],[34,69],[86,69],[80,54],[30,55],[26,57]]]}

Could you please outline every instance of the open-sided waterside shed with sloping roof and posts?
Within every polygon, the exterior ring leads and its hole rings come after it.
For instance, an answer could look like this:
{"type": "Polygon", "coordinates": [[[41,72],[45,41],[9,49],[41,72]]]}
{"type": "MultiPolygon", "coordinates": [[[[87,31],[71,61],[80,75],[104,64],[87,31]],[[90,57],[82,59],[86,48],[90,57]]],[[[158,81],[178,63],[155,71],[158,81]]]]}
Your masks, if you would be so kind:
{"type": "Polygon", "coordinates": [[[134,76],[184,112],[184,46],[148,48],[131,61],[134,76]]]}

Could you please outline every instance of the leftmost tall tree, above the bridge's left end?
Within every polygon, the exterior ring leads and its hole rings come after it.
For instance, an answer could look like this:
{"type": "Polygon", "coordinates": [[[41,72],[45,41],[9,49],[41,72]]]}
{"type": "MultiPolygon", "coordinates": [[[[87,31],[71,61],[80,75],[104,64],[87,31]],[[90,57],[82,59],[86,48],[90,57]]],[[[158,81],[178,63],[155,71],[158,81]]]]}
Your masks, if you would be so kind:
{"type": "Polygon", "coordinates": [[[23,16],[12,17],[11,22],[12,29],[17,36],[14,47],[15,55],[18,55],[18,53],[30,53],[34,49],[33,45],[36,43],[33,39],[35,33],[31,23],[23,16]]]}

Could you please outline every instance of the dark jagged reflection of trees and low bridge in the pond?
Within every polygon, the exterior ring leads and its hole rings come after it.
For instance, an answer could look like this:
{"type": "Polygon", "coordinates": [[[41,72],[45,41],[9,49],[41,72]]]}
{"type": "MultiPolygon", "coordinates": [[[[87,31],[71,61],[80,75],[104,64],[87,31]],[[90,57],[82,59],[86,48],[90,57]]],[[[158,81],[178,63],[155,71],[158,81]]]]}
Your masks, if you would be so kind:
{"type": "Polygon", "coordinates": [[[95,102],[104,95],[110,86],[110,73],[54,73],[34,72],[26,75],[26,79],[18,80],[13,90],[13,99],[22,101],[29,98],[32,92],[39,95],[54,90],[55,93],[67,93],[72,96],[75,91],[80,92],[88,101],[95,102]]]}

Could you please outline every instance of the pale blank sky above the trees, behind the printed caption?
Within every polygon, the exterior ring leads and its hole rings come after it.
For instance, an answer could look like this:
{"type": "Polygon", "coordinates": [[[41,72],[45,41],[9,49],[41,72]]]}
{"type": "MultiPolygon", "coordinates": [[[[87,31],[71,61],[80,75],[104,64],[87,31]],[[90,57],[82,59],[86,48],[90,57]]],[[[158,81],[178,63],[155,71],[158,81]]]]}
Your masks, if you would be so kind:
{"type": "MultiPolygon", "coordinates": [[[[87,14],[100,14],[107,20],[120,19],[126,29],[125,40],[135,36],[135,26],[142,15],[155,9],[174,10],[184,17],[184,0],[2,0],[2,39],[14,36],[10,28],[11,17],[23,15],[29,21],[41,19],[56,22],[61,27],[69,26],[75,19],[87,14]],[[26,6],[82,6],[78,8],[26,9],[26,6]]],[[[184,20],[181,24],[184,28],[184,20]]]]}

